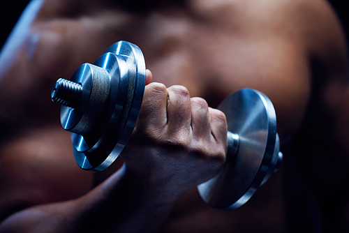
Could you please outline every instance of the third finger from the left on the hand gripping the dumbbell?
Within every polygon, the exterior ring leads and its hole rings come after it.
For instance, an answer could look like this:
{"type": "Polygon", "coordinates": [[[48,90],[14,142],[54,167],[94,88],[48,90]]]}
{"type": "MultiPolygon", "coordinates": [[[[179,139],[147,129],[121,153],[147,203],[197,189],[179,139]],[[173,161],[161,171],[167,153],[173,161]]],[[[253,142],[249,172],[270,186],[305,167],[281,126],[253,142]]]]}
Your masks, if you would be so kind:
{"type": "Polygon", "coordinates": [[[191,128],[195,138],[205,138],[211,136],[211,118],[209,116],[209,106],[203,98],[191,98],[191,128]]]}

